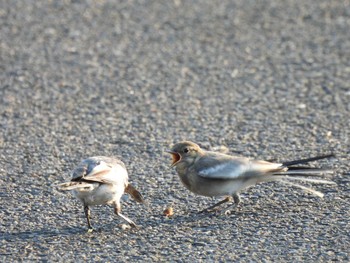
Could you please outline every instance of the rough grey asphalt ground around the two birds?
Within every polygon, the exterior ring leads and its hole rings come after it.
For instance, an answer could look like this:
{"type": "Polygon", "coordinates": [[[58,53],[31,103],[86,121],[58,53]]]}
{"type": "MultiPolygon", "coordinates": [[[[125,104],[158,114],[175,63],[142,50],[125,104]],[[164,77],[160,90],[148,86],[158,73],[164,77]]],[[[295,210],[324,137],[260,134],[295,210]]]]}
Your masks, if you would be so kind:
{"type": "Polygon", "coordinates": [[[1,1],[0,261],[349,261],[349,1],[1,1]],[[335,152],[324,199],[267,183],[231,214],[187,191],[180,140],[291,160],[335,152]],[[119,156],[138,229],[53,186],[119,156]],[[162,215],[167,206],[174,216],[162,215]]]}

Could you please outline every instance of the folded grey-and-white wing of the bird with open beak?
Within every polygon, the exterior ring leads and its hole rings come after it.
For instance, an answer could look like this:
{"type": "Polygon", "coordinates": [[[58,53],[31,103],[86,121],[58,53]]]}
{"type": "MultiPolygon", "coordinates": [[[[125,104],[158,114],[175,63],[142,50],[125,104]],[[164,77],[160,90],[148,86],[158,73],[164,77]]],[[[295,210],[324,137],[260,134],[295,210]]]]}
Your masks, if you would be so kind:
{"type": "Polygon", "coordinates": [[[201,177],[230,180],[280,171],[281,164],[215,154],[201,158],[194,168],[201,177]]]}

